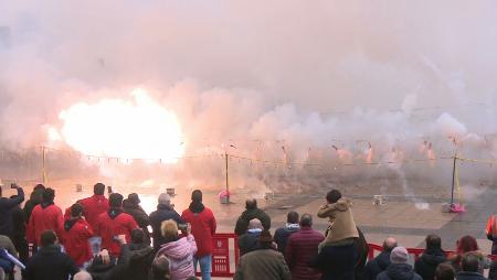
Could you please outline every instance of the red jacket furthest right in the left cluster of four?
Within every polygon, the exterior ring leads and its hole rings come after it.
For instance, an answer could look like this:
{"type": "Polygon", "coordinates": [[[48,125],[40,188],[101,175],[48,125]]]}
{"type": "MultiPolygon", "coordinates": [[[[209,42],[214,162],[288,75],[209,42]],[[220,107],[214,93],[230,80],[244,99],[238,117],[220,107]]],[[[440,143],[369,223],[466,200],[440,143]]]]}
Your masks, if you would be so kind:
{"type": "Polygon", "coordinates": [[[126,235],[126,243],[131,241],[131,230],[138,228],[135,219],[123,209],[109,208],[98,216],[95,234],[102,237],[102,249],[118,257],[120,245],[114,240],[115,236],[126,235]]]}

